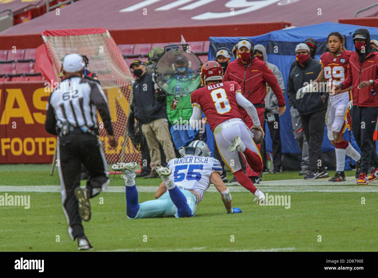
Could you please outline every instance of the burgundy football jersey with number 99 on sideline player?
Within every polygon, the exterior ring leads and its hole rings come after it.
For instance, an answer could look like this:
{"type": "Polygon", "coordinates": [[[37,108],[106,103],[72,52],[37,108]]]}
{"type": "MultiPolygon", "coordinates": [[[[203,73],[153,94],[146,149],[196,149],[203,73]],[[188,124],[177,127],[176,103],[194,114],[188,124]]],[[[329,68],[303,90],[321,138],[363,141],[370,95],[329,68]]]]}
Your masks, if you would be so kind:
{"type": "Polygon", "coordinates": [[[339,85],[347,77],[349,58],[352,54],[350,50],[343,50],[336,57],[333,57],[330,52],[325,52],[320,56],[320,63],[324,68],[324,77],[329,84],[332,81],[335,85],[339,85]]]}

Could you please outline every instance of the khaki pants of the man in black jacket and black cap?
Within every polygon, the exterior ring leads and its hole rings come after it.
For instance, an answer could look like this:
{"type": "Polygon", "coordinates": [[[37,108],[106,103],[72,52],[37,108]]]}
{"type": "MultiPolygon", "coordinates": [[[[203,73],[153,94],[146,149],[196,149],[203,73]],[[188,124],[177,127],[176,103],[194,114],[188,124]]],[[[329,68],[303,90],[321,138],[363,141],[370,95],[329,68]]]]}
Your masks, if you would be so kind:
{"type": "Polygon", "coordinates": [[[142,132],[150,149],[152,171],[156,166],[161,165],[159,143],[163,147],[167,162],[176,158],[166,119],[161,118],[149,124],[142,124],[142,132]]]}

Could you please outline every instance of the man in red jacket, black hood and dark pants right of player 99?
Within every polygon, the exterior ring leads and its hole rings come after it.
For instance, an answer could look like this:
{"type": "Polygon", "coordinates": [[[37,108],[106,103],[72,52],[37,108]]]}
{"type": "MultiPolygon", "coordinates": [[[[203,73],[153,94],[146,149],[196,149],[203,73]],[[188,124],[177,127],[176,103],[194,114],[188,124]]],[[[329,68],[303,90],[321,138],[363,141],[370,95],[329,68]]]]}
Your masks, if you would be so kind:
{"type": "Polygon", "coordinates": [[[373,133],[378,112],[378,51],[370,46],[369,31],[361,28],[353,34],[356,51],[349,59],[347,78],[335,86],[335,93],[352,85],[352,132],[361,149],[361,172],[357,184],[378,178],[378,163],[373,133]],[[369,163],[375,168],[367,177],[369,163]]]}

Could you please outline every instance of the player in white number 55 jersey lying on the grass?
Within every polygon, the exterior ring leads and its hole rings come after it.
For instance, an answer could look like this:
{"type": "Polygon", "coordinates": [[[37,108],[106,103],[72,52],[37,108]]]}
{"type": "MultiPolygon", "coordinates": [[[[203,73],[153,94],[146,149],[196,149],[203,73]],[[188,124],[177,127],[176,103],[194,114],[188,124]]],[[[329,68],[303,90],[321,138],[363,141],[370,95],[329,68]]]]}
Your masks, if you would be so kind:
{"type": "Polygon", "coordinates": [[[126,185],[126,213],[128,219],[151,217],[193,217],[203,193],[210,181],[220,192],[226,213],[240,213],[240,208],[232,208],[231,193],[223,183],[222,167],[210,157],[208,145],[203,141],[193,141],[191,146],[178,151],[182,158],[171,159],[167,167],[158,166],[156,172],[163,182],[156,191],[156,200],[138,203],[135,186],[136,162],[116,163],[115,171],[123,171],[126,185]]]}

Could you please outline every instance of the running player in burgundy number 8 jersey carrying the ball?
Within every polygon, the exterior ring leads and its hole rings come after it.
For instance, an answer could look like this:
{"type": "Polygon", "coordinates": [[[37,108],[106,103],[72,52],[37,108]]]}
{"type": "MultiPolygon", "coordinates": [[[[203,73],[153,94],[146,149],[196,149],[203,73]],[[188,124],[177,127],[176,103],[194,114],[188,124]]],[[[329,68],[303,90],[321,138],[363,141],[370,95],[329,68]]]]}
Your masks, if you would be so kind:
{"type": "Polygon", "coordinates": [[[263,203],[264,194],[244,174],[238,155],[238,152],[243,155],[253,171],[262,171],[259,149],[253,141],[251,130],[242,121],[239,106],[251,117],[254,124],[251,129],[259,129],[264,134],[259,116],[253,104],[242,95],[240,85],[235,81],[222,82],[222,79],[223,69],[218,62],[208,61],[202,66],[201,81],[204,87],[191,94],[193,112],[190,124],[197,129],[201,123],[202,111],[205,113],[223,161],[236,180],[256,196],[255,200],[263,203]]]}

